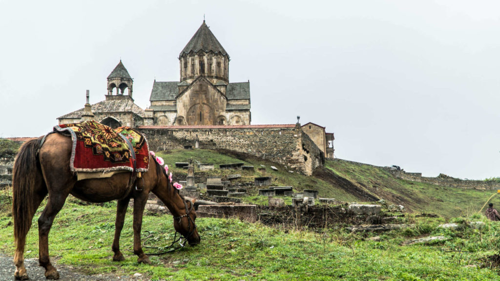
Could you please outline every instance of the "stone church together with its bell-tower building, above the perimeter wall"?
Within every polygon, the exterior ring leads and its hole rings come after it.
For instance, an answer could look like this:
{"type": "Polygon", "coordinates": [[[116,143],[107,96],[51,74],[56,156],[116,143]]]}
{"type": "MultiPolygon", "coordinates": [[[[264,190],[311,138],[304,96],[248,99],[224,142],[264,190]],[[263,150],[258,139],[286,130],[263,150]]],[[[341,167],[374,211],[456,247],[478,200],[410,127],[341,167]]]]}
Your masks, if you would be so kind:
{"type": "Polygon", "coordinates": [[[154,81],[149,108],[133,102],[133,80],[119,61],[107,76],[105,100],[58,117],[122,125],[249,125],[249,82],[229,83],[229,54],[205,21],[179,54],[179,81],[154,81]]]}

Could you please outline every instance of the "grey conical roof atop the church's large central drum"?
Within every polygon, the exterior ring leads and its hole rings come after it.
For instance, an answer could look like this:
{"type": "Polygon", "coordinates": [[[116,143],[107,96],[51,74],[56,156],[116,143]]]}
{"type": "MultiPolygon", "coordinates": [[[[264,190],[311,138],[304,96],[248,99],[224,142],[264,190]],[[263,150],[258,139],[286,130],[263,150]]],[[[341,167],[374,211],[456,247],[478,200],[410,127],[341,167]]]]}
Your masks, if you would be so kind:
{"type": "Polygon", "coordinates": [[[210,31],[210,28],[206,26],[204,20],[196,33],[194,33],[184,49],[180,52],[179,57],[182,56],[183,53],[187,54],[190,51],[197,52],[199,50],[203,50],[205,52],[213,51],[214,53],[227,55],[227,52],[219,43],[217,38],[215,38],[212,31],[210,31]]]}

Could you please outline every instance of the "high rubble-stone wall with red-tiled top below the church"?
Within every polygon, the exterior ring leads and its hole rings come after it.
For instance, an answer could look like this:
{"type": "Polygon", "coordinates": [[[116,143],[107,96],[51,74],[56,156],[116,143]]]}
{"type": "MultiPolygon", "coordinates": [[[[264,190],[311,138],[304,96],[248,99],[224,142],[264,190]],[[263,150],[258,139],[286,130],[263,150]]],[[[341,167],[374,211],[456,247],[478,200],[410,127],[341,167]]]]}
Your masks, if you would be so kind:
{"type": "Polygon", "coordinates": [[[138,126],[151,150],[222,148],[253,154],[311,175],[324,153],[294,124],[243,126],[138,126]]]}

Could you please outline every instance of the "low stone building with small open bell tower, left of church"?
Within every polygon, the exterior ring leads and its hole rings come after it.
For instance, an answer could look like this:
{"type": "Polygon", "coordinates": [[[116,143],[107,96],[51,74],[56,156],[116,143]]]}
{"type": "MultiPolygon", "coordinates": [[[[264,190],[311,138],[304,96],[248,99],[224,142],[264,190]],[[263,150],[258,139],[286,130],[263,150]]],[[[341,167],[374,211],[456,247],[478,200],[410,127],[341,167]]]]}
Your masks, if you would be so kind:
{"type": "Polygon", "coordinates": [[[113,128],[142,125],[144,110],[133,103],[132,85],[133,80],[120,60],[107,76],[105,100],[90,105],[87,91],[85,107],[58,117],[59,124],[77,123],[90,118],[113,128]]]}

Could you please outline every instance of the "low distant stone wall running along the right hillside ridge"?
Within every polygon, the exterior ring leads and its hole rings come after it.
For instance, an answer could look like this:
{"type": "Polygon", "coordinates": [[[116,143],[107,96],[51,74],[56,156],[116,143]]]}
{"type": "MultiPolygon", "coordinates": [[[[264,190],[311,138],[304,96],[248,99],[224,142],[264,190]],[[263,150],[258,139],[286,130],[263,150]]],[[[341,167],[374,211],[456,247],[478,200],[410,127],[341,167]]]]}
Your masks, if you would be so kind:
{"type": "Polygon", "coordinates": [[[486,181],[486,180],[460,179],[460,178],[451,177],[449,175],[445,175],[442,173],[440,173],[436,177],[427,177],[427,176],[422,176],[421,172],[405,172],[402,169],[397,170],[397,169],[393,169],[391,167],[375,166],[375,165],[371,165],[371,164],[364,164],[364,163],[343,160],[343,159],[338,159],[338,158],[336,158],[334,160],[335,161],[344,161],[344,162],[348,162],[348,163],[355,164],[355,165],[368,165],[368,166],[372,166],[372,167],[382,168],[382,169],[392,173],[395,177],[405,179],[405,180],[430,183],[430,184],[435,184],[435,185],[440,185],[440,186],[451,186],[451,187],[464,188],[464,189],[482,189],[482,190],[500,189],[500,182],[496,182],[496,181],[492,181],[492,180],[486,181]]]}

